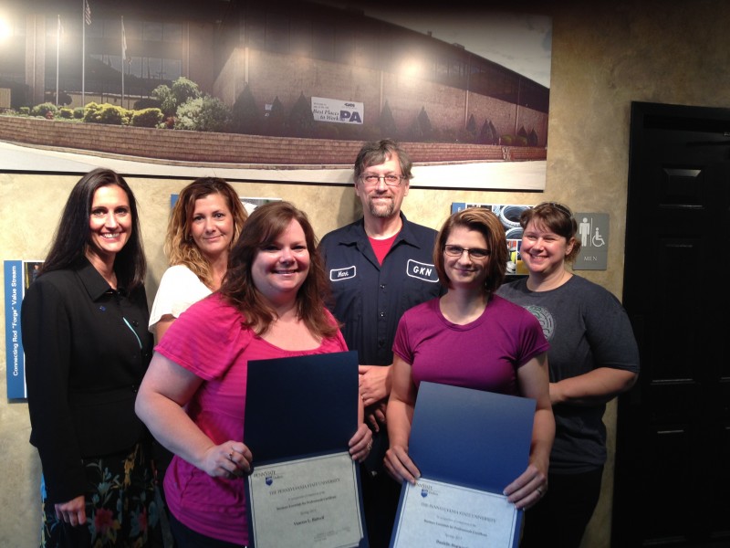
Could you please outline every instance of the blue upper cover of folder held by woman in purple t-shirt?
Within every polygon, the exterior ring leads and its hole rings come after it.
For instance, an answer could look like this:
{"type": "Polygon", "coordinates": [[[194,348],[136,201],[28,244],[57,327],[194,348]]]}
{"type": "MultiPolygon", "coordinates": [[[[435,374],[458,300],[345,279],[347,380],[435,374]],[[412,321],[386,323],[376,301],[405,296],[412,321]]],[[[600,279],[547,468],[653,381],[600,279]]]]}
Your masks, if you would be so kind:
{"type": "Polygon", "coordinates": [[[408,454],[422,475],[502,493],[527,469],[535,400],[422,382],[408,454]]]}

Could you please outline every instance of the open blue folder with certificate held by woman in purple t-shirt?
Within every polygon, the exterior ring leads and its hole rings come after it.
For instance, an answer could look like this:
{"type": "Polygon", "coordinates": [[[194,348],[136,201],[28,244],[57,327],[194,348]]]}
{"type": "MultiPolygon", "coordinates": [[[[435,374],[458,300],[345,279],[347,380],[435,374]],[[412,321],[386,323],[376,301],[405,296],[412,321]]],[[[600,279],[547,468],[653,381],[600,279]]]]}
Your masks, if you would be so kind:
{"type": "Polygon", "coordinates": [[[522,511],[502,490],[527,469],[536,402],[422,382],[391,547],[516,548],[522,511]]]}

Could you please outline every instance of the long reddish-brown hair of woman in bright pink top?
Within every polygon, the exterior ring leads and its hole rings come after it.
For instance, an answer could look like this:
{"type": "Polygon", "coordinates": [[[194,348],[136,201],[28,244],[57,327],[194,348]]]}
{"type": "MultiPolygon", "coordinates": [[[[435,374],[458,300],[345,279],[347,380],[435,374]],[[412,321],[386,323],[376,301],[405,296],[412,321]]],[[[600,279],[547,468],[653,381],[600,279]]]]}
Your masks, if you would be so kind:
{"type": "Polygon", "coordinates": [[[329,285],[317,248],[317,237],[307,214],[288,202],[259,205],[248,217],[245,231],[231,250],[228,271],[219,292],[245,316],[246,327],[259,335],[265,333],[276,320],[276,312],[256,289],[251,269],[261,249],[284,232],[292,220],[304,230],[309,252],[307,279],[297,291],[297,316],[314,336],[331,337],[337,333],[339,326],[333,324],[325,312],[324,296],[329,285]]]}

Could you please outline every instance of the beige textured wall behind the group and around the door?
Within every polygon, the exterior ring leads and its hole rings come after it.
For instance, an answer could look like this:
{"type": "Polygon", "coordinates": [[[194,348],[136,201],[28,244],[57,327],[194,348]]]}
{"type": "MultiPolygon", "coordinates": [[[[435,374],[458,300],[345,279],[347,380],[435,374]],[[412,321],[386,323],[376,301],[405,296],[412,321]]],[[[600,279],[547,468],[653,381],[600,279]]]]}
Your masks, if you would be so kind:
{"type": "MultiPolygon", "coordinates": [[[[559,200],[576,210],[610,214],[609,269],[582,272],[620,296],[631,100],[725,107],[730,99],[730,6],[725,0],[544,3],[553,16],[552,82],[544,193],[419,190],[404,211],[438,227],[451,202],[533,204],[559,200]]],[[[2,166],[0,166],[0,170],[2,166]]],[[[77,177],[0,174],[0,259],[42,258],[77,177]]],[[[132,178],[150,259],[148,288],[156,290],[165,263],[162,233],[169,195],[185,180],[132,178]]],[[[417,183],[417,182],[416,182],[417,183]]],[[[448,183],[448,182],[445,182],[448,183]]],[[[308,211],[322,236],[357,215],[350,188],[297,184],[235,184],[241,195],[281,196],[308,211]]],[[[3,343],[0,352],[5,353],[3,343]]],[[[34,546],[38,536],[35,449],[27,443],[23,403],[5,399],[0,364],[0,546],[34,546]]],[[[615,406],[606,416],[613,447],[615,406]]],[[[612,454],[612,453],[611,453],[612,454]]],[[[612,465],[585,547],[610,545],[612,465]]]]}

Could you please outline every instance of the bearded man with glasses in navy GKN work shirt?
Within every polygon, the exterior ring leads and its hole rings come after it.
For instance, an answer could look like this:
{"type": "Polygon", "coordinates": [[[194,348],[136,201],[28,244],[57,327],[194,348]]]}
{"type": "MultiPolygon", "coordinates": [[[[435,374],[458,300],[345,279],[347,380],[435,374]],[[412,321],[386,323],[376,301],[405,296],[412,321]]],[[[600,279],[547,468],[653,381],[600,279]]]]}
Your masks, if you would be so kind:
{"type": "Polygon", "coordinates": [[[360,395],[373,430],[362,494],[370,546],[388,546],[401,486],[382,469],[388,448],[385,406],[391,391],[392,344],[404,311],[442,293],[433,267],[436,231],[401,213],[412,163],[398,142],[367,142],[355,160],[355,194],[363,216],[322,238],[342,334],[360,363],[360,395]]]}

